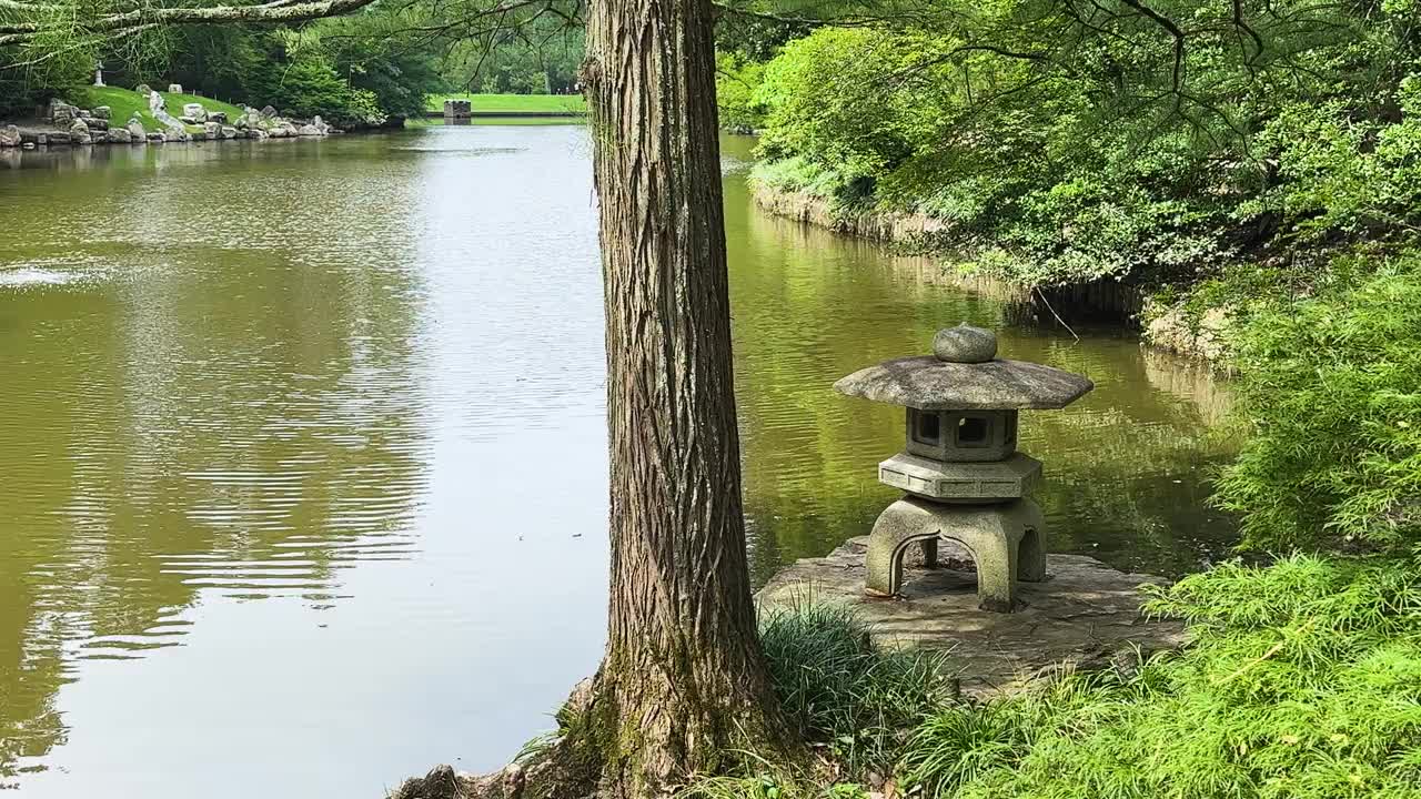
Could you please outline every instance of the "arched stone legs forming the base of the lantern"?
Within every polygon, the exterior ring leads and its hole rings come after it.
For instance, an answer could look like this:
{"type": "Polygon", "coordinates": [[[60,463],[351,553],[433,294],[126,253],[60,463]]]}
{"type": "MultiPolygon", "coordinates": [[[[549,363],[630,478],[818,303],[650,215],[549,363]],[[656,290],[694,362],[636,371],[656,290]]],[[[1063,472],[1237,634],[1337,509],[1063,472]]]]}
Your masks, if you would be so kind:
{"type": "Polygon", "coordinates": [[[1046,579],[1046,522],[1030,499],[1003,505],[941,505],[907,496],[890,505],[868,535],[865,593],[897,596],[902,589],[902,557],[921,545],[924,560],[936,564],[938,539],[961,543],[972,554],[982,610],[1010,613],[1016,583],[1046,579]]]}

